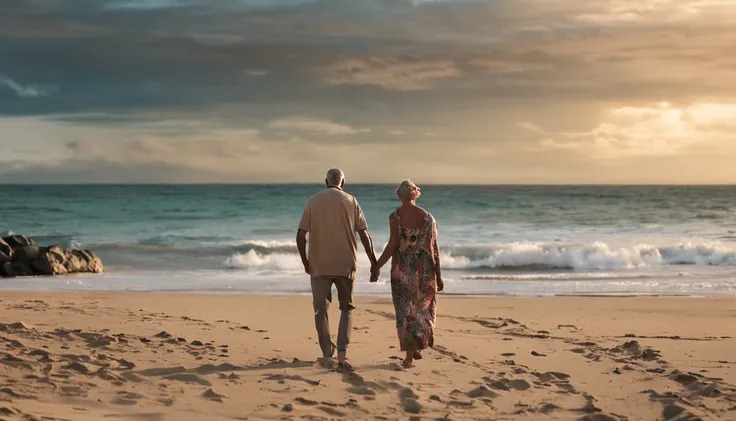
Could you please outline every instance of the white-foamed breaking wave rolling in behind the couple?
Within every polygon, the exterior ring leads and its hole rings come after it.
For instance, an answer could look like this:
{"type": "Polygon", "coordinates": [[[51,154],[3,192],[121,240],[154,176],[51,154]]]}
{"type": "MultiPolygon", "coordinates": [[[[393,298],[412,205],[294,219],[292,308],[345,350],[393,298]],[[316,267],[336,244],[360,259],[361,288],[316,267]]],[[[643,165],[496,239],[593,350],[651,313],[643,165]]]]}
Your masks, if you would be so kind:
{"type": "MultiPolygon", "coordinates": [[[[166,260],[172,267],[179,264],[189,268],[205,266],[199,267],[201,269],[301,271],[294,241],[158,236],[131,242],[87,243],[66,235],[35,238],[43,244],[90,248],[99,253],[103,260],[109,260],[116,266],[140,266],[146,265],[146,262],[153,264],[157,260],[166,260]]],[[[358,258],[364,259],[362,250],[358,258]]],[[[676,265],[736,266],[736,247],[721,242],[614,247],[601,241],[588,244],[515,242],[442,247],[442,266],[447,270],[617,272],[676,265]]]]}

